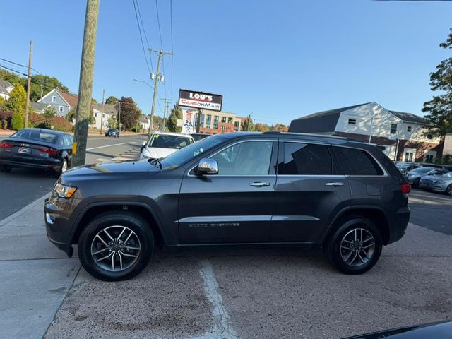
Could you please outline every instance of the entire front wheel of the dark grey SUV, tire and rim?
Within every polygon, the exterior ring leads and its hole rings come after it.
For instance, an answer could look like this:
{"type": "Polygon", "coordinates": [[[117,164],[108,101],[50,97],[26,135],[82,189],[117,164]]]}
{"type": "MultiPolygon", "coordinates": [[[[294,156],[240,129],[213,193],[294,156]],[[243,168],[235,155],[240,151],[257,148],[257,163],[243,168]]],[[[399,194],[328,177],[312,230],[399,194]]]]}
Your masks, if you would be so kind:
{"type": "Polygon", "coordinates": [[[103,213],[85,227],[78,239],[83,268],[106,281],[126,280],[140,273],[153,249],[153,232],[135,213],[103,213]]]}

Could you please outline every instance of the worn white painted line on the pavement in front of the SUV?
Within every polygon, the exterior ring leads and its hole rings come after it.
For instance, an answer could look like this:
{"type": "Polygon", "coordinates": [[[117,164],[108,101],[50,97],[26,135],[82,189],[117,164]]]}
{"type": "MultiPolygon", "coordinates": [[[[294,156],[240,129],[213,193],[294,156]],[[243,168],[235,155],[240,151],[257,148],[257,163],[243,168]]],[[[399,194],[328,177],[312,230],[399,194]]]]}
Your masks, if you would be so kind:
{"type": "Polygon", "coordinates": [[[229,315],[223,304],[223,299],[218,291],[218,283],[213,273],[213,266],[208,260],[201,261],[201,277],[204,281],[204,290],[206,296],[213,306],[213,316],[217,319],[217,323],[207,333],[196,335],[191,339],[237,339],[237,333],[228,323],[229,315]]]}

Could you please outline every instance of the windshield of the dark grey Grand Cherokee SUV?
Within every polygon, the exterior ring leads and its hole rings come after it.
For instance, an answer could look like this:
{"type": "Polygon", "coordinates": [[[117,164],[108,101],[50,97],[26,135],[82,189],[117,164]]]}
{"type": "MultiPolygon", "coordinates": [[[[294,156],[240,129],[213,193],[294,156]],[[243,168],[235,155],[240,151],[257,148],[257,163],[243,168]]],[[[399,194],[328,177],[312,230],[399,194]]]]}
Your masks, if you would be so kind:
{"type": "Polygon", "coordinates": [[[165,157],[165,159],[162,160],[162,168],[179,167],[185,162],[194,159],[198,155],[206,153],[208,150],[214,148],[216,145],[219,145],[226,139],[227,138],[225,136],[218,134],[196,141],[196,143],[192,143],[186,148],[182,148],[182,150],[178,150],[177,152],[165,157]]]}

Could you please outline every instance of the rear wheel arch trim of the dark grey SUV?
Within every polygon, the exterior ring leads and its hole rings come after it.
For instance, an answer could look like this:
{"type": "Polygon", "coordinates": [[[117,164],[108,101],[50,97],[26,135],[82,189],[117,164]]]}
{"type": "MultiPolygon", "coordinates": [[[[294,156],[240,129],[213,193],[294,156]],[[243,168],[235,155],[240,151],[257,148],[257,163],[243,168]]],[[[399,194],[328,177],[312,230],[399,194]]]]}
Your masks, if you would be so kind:
{"type": "Polygon", "coordinates": [[[338,230],[344,220],[354,217],[364,217],[374,222],[376,227],[381,232],[383,244],[388,244],[390,238],[388,218],[383,209],[376,206],[352,206],[340,210],[340,213],[335,216],[328,227],[328,231],[322,239],[322,244],[327,244],[329,242],[331,237],[333,237],[334,232],[338,230]]]}

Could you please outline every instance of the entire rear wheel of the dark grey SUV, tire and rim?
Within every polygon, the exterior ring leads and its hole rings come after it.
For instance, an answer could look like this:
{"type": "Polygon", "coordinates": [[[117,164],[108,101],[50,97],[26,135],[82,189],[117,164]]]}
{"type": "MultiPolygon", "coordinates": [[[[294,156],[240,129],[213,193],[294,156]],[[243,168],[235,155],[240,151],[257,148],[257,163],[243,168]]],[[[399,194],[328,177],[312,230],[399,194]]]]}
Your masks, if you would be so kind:
{"type": "Polygon", "coordinates": [[[367,218],[347,218],[325,247],[329,263],[346,274],[370,270],[381,255],[381,232],[367,218]]]}

